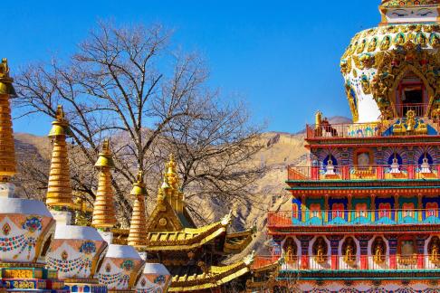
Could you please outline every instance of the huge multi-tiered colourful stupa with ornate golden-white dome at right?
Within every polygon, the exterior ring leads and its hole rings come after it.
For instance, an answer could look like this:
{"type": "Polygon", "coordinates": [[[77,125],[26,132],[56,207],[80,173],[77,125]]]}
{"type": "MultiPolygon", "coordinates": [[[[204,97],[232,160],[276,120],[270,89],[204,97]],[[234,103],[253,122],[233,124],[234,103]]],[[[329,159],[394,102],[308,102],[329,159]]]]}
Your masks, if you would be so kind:
{"type": "Polygon", "coordinates": [[[292,211],[269,213],[280,289],[440,292],[440,1],[384,0],[340,66],[352,124],[320,112],[292,211]]]}

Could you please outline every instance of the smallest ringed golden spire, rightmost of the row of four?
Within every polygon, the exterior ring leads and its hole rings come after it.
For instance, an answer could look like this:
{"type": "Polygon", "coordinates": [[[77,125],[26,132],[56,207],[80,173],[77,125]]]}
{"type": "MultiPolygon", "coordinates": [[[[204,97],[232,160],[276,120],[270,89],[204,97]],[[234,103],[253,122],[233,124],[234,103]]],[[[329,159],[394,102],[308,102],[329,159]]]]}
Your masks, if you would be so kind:
{"type": "Polygon", "coordinates": [[[145,214],[145,196],[147,190],[143,182],[142,172],[139,171],[137,181],[133,184],[130,195],[135,197],[133,214],[129,226],[128,243],[131,246],[143,246],[147,244],[147,216],[145,214]]]}

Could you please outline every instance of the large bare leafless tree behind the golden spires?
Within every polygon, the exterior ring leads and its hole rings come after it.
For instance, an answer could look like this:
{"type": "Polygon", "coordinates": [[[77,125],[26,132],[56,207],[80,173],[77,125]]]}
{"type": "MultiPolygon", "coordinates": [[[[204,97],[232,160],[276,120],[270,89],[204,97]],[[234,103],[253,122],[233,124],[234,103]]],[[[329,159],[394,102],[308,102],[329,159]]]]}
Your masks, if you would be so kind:
{"type": "Polygon", "coordinates": [[[73,187],[90,202],[92,165],[103,137],[112,137],[113,186],[125,224],[138,168],[154,196],[169,153],[177,155],[190,206],[210,196],[251,198],[250,186],[264,172],[250,163],[262,147],[255,142],[260,128],[243,104],[225,102],[206,86],[208,72],[196,54],[173,52],[170,35],[159,25],[100,23],[68,61],[33,63],[15,79],[14,102],[23,115],[54,117],[63,105],[72,130],[73,187]]]}

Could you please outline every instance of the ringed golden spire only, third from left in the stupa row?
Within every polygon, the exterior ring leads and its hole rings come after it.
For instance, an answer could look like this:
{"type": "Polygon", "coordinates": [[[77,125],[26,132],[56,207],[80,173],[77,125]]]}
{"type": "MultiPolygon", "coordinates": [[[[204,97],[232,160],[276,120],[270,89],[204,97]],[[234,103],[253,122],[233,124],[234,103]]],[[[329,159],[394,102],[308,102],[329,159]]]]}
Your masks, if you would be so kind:
{"type": "Polygon", "coordinates": [[[98,229],[107,230],[116,224],[115,205],[113,189],[111,187],[110,170],[114,167],[110,153],[109,139],[104,140],[95,167],[100,169],[98,180],[98,191],[93,207],[93,218],[91,225],[98,229]]]}

